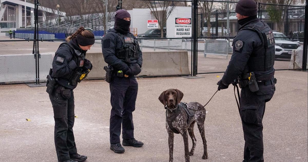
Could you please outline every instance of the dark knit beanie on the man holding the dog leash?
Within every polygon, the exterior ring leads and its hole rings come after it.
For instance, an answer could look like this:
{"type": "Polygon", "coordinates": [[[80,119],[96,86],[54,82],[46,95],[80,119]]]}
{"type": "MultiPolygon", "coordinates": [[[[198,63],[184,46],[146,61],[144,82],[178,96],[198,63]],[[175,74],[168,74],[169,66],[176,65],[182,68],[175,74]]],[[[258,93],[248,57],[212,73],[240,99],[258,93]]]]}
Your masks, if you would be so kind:
{"type": "Polygon", "coordinates": [[[236,4],[235,12],[243,16],[257,16],[258,7],[253,0],[239,0],[236,4]]]}

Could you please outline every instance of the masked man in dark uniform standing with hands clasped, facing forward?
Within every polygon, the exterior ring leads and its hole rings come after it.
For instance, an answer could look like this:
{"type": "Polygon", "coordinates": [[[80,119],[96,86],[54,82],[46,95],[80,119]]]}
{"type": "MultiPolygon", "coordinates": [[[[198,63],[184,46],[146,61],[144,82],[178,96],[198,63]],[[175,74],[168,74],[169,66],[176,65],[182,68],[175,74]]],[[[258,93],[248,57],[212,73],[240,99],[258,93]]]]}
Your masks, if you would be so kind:
{"type": "Polygon", "coordinates": [[[126,10],[115,12],[115,26],[102,38],[102,51],[109,69],[113,69],[110,82],[110,149],[123,153],[120,144],[141,147],[143,143],[134,138],[132,112],[135,110],[138,83],[134,76],[141,72],[142,53],[136,37],[129,32],[131,16],[126,10]]]}

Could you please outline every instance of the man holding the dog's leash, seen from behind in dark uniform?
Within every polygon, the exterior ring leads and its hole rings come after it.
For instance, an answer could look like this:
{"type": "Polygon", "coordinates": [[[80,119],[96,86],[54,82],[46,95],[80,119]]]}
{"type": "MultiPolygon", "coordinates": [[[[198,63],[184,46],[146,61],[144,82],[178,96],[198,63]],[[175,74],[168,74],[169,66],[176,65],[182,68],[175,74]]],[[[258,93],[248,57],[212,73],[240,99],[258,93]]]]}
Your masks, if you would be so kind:
{"type": "Polygon", "coordinates": [[[275,91],[275,41],[270,27],[257,18],[257,5],[253,0],[240,0],[235,11],[241,27],[233,39],[229,65],[217,85],[218,90],[226,89],[239,76],[240,116],[245,139],[243,162],[260,162],[264,161],[265,103],[275,91]]]}

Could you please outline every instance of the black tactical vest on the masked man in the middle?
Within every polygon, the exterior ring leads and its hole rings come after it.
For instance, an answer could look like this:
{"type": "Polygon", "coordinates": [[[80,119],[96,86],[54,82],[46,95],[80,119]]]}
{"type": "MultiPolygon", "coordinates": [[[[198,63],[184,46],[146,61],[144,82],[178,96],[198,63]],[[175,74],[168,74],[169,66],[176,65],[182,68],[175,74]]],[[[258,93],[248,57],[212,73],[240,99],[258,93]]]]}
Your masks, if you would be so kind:
{"type": "Polygon", "coordinates": [[[115,32],[122,40],[122,47],[115,50],[115,56],[120,60],[124,60],[126,63],[131,63],[133,60],[137,60],[140,51],[138,40],[134,39],[131,33],[124,35],[116,31],[112,32],[115,32]]]}

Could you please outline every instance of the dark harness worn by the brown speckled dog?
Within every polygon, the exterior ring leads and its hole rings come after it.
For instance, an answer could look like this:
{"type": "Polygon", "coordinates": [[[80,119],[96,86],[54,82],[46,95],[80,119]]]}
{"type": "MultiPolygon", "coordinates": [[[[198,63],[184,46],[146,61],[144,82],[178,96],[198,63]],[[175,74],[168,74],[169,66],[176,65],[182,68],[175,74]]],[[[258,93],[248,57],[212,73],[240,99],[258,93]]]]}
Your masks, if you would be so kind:
{"type": "Polygon", "coordinates": [[[169,111],[173,112],[173,110],[167,109],[166,110],[166,119],[167,119],[168,126],[176,134],[179,134],[180,132],[178,132],[174,127],[172,127],[172,122],[180,114],[181,109],[184,109],[184,111],[187,114],[187,124],[189,124],[193,120],[193,116],[195,115],[195,112],[193,110],[189,109],[187,103],[185,103],[185,102],[179,103],[177,105],[176,109],[175,109],[175,112],[170,117],[167,116],[167,111],[169,110],[169,111]]]}

